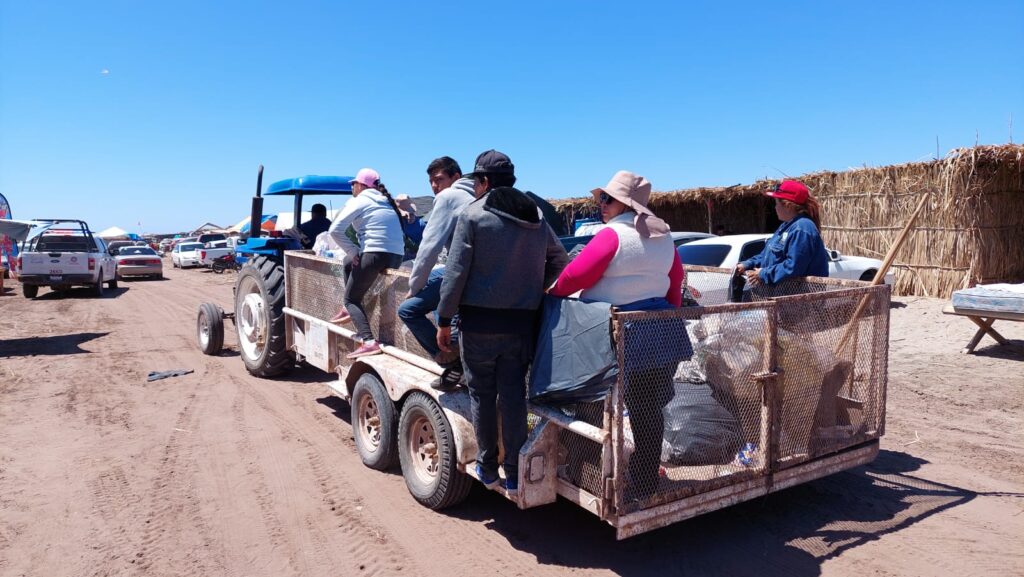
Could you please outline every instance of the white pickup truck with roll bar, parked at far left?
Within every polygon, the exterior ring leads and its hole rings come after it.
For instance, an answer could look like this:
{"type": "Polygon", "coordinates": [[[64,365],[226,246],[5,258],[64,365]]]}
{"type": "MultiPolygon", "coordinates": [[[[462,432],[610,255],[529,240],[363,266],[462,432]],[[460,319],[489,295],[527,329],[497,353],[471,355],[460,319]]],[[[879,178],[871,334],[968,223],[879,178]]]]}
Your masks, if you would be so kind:
{"type": "Polygon", "coordinates": [[[40,222],[17,257],[17,279],[26,298],[35,298],[39,287],[46,286],[52,290],[86,286],[96,296],[103,295],[103,284],[118,287],[117,260],[85,221],[61,218],[40,222]]]}

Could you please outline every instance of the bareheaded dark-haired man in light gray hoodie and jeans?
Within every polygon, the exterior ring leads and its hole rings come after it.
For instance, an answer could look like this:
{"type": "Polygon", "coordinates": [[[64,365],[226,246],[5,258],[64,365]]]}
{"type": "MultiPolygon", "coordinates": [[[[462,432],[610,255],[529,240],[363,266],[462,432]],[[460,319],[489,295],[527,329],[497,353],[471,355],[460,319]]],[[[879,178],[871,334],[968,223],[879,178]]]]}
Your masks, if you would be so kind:
{"type": "Polygon", "coordinates": [[[409,278],[409,294],[398,306],[398,318],[410,332],[438,364],[453,361],[454,355],[440,355],[437,348],[437,329],[430,316],[440,301],[441,280],[444,278],[442,252],[452,245],[456,217],[473,202],[473,179],[464,178],[462,168],[455,159],[442,156],[427,166],[430,189],[434,192],[434,206],[423,231],[423,240],[413,261],[409,278]]]}

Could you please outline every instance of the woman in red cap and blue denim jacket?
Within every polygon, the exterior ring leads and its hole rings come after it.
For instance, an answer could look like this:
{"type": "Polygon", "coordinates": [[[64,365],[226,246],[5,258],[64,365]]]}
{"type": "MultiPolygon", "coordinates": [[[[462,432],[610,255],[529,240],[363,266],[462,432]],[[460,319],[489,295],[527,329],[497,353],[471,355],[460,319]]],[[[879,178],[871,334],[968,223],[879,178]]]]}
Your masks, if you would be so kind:
{"type": "Polygon", "coordinates": [[[772,286],[790,277],[827,277],[818,201],[797,180],[783,180],[765,194],[775,199],[775,214],[782,223],[761,254],[736,264],[736,273],[745,275],[752,287],[772,286]]]}

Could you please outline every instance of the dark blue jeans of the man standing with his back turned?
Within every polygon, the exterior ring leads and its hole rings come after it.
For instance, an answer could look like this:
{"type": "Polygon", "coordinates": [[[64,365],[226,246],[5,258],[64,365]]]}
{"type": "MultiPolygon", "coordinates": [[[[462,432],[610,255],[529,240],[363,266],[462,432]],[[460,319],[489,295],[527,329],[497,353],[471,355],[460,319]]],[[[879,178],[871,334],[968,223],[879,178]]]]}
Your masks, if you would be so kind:
{"type": "Polygon", "coordinates": [[[476,462],[498,472],[498,411],[502,412],[506,479],[519,479],[519,450],[526,443],[526,370],[534,337],[525,334],[462,333],[462,365],[476,431],[476,462]]]}

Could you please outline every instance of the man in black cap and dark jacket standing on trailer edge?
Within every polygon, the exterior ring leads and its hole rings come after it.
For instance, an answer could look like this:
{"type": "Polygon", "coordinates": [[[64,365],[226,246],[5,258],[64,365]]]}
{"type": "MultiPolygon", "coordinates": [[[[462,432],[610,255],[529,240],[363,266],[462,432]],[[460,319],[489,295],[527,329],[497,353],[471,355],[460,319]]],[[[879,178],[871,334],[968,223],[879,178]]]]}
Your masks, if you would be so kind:
{"type": "MultiPolygon", "coordinates": [[[[469,175],[468,175],[469,176],[469,175]]],[[[501,399],[505,488],[519,487],[519,450],[526,442],[526,369],[534,357],[537,311],[544,291],[568,262],[537,204],[512,188],[515,167],[487,151],[471,174],[477,200],[459,215],[437,308],[437,345],[451,348],[452,318],[476,429],[476,476],[498,483],[501,399]]]]}

